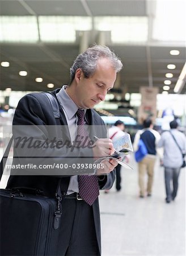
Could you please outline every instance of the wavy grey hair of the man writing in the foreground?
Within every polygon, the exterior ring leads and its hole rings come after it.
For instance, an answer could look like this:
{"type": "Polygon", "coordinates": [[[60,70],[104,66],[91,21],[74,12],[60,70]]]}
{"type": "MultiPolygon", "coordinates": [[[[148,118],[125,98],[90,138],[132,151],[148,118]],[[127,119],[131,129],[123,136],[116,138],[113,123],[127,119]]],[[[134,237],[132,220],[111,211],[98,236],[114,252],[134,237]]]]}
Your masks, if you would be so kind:
{"type": "Polygon", "coordinates": [[[93,46],[85,52],[79,54],[70,68],[70,84],[74,80],[75,72],[81,68],[84,77],[88,78],[94,75],[98,60],[107,58],[111,61],[113,68],[118,73],[122,69],[122,63],[119,57],[107,46],[93,46]]]}

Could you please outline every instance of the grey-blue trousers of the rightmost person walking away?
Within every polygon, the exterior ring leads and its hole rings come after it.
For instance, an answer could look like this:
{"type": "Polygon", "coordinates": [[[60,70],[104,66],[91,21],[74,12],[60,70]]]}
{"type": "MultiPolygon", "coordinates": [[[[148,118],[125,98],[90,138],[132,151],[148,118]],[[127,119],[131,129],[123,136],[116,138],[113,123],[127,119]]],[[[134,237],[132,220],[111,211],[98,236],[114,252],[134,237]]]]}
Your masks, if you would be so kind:
{"type": "Polygon", "coordinates": [[[174,200],[177,195],[178,177],[180,168],[164,168],[164,181],[166,184],[166,200],[174,200]],[[172,185],[171,185],[172,181],[172,185]],[[172,188],[171,188],[172,187],[172,188]]]}

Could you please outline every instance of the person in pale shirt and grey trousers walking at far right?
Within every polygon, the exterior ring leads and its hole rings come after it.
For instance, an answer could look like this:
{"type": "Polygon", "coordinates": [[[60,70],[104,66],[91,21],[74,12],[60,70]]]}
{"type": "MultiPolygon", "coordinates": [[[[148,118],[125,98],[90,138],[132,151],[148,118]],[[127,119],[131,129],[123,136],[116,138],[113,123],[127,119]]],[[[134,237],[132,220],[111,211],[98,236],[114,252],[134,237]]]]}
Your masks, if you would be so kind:
{"type": "Polygon", "coordinates": [[[158,147],[163,147],[164,154],[161,163],[164,166],[164,182],[166,186],[166,203],[175,200],[178,189],[178,178],[183,154],[185,153],[185,135],[177,130],[176,120],[170,122],[170,131],[164,131],[161,135],[158,147]],[[172,183],[172,188],[171,188],[172,183]]]}

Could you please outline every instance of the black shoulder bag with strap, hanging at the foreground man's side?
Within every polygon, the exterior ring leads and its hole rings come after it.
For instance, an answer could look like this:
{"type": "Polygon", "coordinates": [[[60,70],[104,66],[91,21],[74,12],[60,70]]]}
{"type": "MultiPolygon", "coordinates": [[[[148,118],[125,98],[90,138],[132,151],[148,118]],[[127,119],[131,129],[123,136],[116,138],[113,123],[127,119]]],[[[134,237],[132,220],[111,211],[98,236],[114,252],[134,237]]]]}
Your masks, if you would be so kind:
{"type": "MultiPolygon", "coordinates": [[[[58,107],[49,96],[55,117],[58,107]]],[[[9,155],[12,138],[1,160],[1,175],[9,155]]],[[[60,179],[59,179],[60,180],[60,179]]],[[[61,222],[61,180],[56,198],[41,196],[32,188],[0,189],[1,237],[0,255],[57,255],[58,234],[61,222]]],[[[67,187],[63,187],[64,191],[67,187]]]]}

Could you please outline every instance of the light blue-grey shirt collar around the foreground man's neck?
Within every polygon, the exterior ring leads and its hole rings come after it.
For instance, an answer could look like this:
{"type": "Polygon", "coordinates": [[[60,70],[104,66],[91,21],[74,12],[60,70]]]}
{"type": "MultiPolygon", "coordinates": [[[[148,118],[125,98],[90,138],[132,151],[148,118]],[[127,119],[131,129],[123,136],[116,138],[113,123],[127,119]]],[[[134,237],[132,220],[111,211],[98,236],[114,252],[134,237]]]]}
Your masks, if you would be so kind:
{"type": "MultiPolygon", "coordinates": [[[[58,101],[60,101],[60,104],[62,108],[64,109],[65,113],[67,114],[67,117],[69,120],[74,117],[76,112],[78,111],[78,106],[74,103],[74,101],[69,97],[69,95],[66,93],[65,89],[67,88],[67,85],[62,86],[60,92],[56,94],[58,101]]],[[[86,109],[84,109],[84,114],[86,113],[86,109]]]]}

